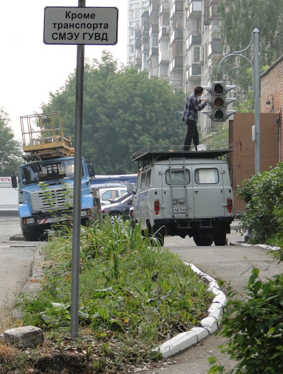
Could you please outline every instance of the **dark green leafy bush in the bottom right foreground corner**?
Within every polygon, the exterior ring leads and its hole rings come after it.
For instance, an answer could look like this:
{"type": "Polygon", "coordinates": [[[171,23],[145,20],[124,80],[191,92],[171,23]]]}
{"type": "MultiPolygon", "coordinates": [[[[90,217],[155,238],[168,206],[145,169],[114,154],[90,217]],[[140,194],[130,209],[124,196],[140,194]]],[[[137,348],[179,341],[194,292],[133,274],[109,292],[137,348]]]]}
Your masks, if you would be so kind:
{"type": "MultiPolygon", "coordinates": [[[[283,275],[263,282],[258,273],[258,269],[252,270],[244,300],[234,298],[239,295],[231,288],[227,294],[233,299],[222,319],[220,333],[227,343],[221,351],[237,362],[228,374],[283,372],[283,275]]],[[[208,373],[227,373],[215,358],[210,364],[208,373]]]]}

